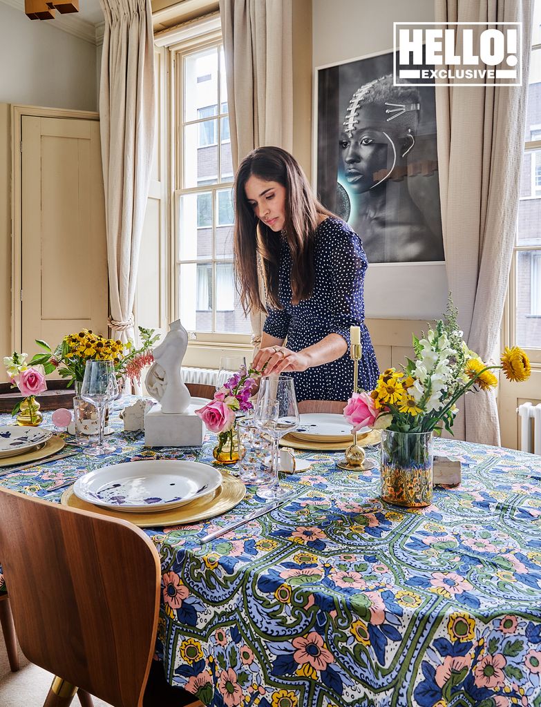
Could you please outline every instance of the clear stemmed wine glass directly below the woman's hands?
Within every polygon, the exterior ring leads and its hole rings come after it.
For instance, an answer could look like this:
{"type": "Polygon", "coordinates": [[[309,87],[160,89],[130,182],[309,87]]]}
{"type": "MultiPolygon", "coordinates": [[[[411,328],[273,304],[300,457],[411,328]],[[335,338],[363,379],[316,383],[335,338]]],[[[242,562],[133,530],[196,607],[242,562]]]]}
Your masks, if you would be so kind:
{"type": "Polygon", "coordinates": [[[287,375],[269,375],[262,378],[254,422],[272,438],[272,485],[260,489],[257,494],[274,501],[286,493],[278,478],[278,442],[281,437],[296,429],[299,423],[293,378],[287,375]]]}

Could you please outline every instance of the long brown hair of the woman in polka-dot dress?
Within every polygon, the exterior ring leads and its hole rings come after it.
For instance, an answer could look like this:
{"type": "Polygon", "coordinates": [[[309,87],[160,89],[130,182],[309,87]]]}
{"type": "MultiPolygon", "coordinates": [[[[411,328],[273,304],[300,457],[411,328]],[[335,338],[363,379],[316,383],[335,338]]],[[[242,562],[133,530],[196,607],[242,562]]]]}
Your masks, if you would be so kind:
{"type": "Polygon", "coordinates": [[[281,238],[257,216],[248,203],[246,182],[251,176],[278,182],[286,189],[286,214],[282,237],[291,251],[293,300],[308,299],[314,290],[314,234],[321,214],[333,216],[312,193],[301,165],[279,147],[259,147],[243,159],[235,175],[235,232],[233,252],[240,302],[245,312],[265,311],[257,276],[257,255],[262,258],[263,281],[269,304],[281,309],[278,274],[281,238]]]}

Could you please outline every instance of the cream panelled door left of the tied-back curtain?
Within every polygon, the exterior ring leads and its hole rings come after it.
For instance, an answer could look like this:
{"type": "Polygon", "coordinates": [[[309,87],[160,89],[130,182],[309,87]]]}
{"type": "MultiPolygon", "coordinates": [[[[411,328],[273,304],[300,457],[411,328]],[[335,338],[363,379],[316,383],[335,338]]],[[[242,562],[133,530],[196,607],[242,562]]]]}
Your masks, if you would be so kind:
{"type": "Polygon", "coordinates": [[[107,335],[107,245],[97,120],[21,117],[21,329],[54,347],[107,335]]]}

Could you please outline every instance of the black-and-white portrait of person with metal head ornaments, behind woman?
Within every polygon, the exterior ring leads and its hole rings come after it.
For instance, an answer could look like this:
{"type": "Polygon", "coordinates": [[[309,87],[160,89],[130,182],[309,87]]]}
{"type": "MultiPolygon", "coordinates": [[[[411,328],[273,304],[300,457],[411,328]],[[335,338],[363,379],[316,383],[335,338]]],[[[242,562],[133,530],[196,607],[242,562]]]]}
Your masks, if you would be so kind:
{"type": "Polygon", "coordinates": [[[392,70],[392,52],[316,69],[318,197],[368,262],[441,262],[434,85],[394,86],[392,70]]]}

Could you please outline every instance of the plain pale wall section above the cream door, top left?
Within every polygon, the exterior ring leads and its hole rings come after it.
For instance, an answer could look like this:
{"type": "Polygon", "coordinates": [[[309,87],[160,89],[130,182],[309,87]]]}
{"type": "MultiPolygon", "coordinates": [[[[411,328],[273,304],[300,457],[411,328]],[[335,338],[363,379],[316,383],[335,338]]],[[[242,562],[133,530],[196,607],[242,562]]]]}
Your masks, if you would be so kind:
{"type": "Polygon", "coordinates": [[[95,45],[0,2],[0,103],[97,110],[95,45]]]}

